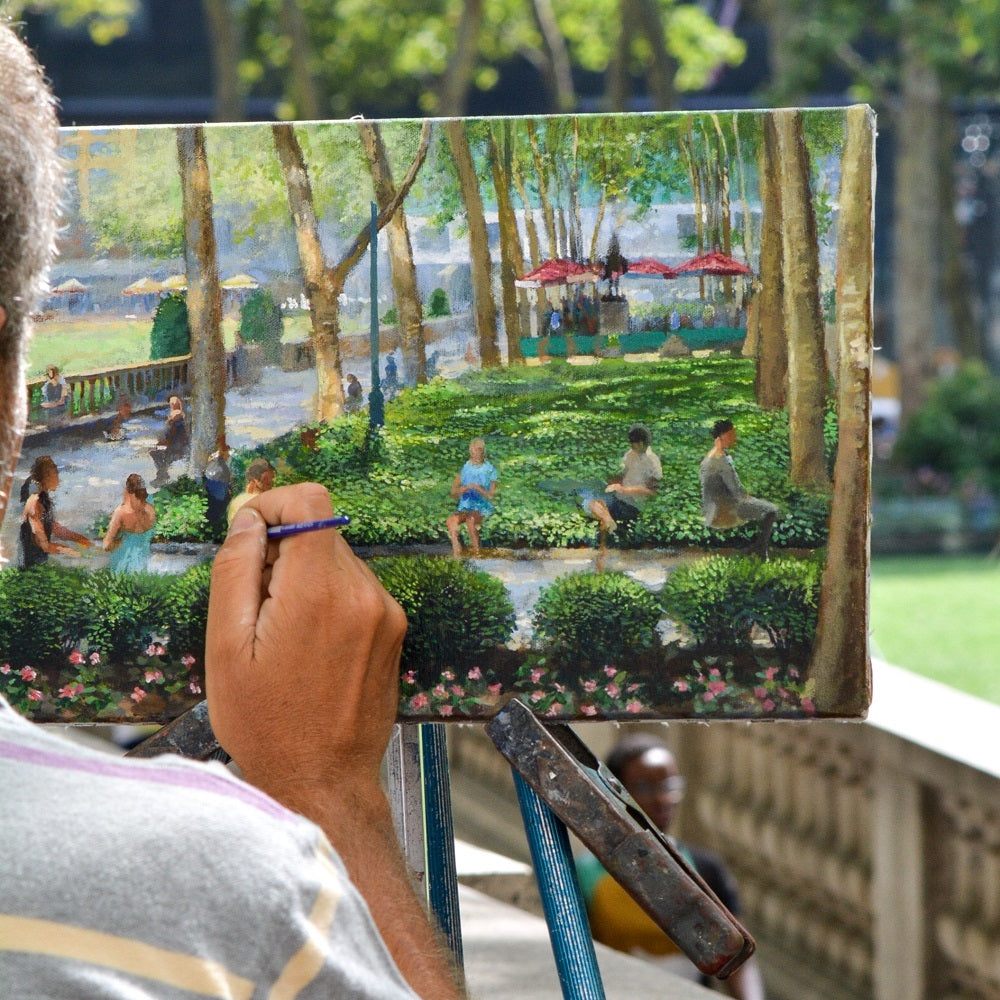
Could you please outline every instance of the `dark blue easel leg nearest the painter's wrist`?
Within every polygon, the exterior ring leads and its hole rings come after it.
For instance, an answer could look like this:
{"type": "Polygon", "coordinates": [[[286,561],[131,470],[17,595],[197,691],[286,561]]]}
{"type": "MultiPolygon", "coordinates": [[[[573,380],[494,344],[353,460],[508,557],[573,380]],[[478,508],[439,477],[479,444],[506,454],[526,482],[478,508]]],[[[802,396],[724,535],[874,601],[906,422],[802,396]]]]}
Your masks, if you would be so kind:
{"type": "Polygon", "coordinates": [[[420,724],[423,765],[427,899],[448,940],[459,969],[463,966],[462,921],[455,867],[455,825],[451,811],[451,779],[444,724],[420,724]]]}

